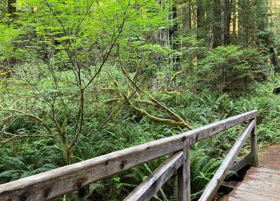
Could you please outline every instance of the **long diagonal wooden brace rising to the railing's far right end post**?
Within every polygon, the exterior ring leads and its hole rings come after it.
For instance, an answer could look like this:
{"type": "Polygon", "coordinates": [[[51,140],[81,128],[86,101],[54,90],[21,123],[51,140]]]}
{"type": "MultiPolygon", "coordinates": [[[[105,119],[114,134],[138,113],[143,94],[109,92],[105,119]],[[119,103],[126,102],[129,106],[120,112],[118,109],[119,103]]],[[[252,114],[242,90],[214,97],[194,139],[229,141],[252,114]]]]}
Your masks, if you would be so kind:
{"type": "Polygon", "coordinates": [[[253,130],[255,125],[255,120],[250,120],[246,125],[243,132],[240,134],[236,142],[234,143],[233,147],[230,149],[229,153],[226,155],[224,161],[222,162],[221,166],[211,179],[211,181],[206,186],[204,192],[202,193],[199,201],[210,201],[214,197],[215,193],[217,192],[218,188],[220,187],[221,183],[223,182],[224,178],[227,175],[228,170],[232,166],[235,158],[238,156],[240,150],[242,149],[243,145],[245,144],[250,132],[253,130]]]}

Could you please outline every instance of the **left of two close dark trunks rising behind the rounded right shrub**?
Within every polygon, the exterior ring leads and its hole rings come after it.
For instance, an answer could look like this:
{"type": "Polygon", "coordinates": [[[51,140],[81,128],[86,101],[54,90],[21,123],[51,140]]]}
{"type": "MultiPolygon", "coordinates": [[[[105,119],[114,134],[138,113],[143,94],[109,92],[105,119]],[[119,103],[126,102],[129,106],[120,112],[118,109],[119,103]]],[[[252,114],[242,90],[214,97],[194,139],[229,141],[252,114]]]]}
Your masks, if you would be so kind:
{"type": "Polygon", "coordinates": [[[214,0],[213,5],[213,48],[221,45],[221,0],[214,0]]]}

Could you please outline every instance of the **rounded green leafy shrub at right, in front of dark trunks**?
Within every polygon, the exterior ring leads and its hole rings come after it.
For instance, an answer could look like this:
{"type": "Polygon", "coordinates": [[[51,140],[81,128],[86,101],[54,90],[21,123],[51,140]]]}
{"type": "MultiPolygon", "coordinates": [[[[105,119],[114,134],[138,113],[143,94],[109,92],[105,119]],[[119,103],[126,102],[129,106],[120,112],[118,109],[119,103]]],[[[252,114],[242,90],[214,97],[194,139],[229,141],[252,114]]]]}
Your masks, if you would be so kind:
{"type": "Polygon", "coordinates": [[[268,69],[257,49],[234,45],[207,51],[197,66],[203,85],[223,92],[248,91],[268,75],[268,69]]]}

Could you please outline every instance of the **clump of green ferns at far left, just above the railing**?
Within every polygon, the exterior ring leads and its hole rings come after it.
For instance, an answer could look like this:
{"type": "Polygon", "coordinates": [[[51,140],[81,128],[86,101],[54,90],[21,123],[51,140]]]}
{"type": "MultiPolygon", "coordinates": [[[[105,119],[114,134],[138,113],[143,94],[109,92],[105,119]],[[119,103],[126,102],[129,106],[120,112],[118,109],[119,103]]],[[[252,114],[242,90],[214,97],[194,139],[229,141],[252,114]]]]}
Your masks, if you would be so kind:
{"type": "Polygon", "coordinates": [[[61,155],[51,142],[32,140],[2,148],[0,183],[5,183],[57,168],[61,155]],[[21,146],[20,146],[21,144],[21,146]],[[49,145],[50,144],[50,145],[49,145]],[[12,147],[16,147],[13,149],[12,147]]]}

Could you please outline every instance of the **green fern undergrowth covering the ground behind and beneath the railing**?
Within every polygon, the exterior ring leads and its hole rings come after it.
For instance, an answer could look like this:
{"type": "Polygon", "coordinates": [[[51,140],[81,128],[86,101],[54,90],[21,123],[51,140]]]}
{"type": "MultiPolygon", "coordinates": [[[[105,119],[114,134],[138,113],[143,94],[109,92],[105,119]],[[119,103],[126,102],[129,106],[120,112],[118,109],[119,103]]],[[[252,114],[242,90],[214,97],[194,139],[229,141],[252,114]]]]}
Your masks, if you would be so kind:
{"type": "MultiPolygon", "coordinates": [[[[274,78],[277,80],[277,77],[274,78]]],[[[192,92],[184,90],[180,95],[167,95],[165,103],[188,119],[192,125],[200,127],[251,110],[258,110],[257,134],[259,147],[280,142],[280,98],[272,90],[277,81],[259,83],[254,92],[240,97],[231,97],[204,90],[192,92]]],[[[94,118],[87,122],[94,126],[94,118]]],[[[16,120],[10,127],[15,133],[30,132],[38,127],[32,122],[16,120]],[[12,126],[12,127],[11,127],[12,126]],[[19,129],[24,128],[24,129],[19,129]]],[[[242,126],[217,134],[211,139],[196,143],[191,150],[191,181],[193,197],[203,190],[221,163],[221,159],[231,148],[242,126]]],[[[120,122],[110,122],[102,131],[92,135],[74,150],[72,163],[124,149],[137,144],[176,135],[183,130],[149,122],[136,115],[123,118],[120,122]]],[[[245,145],[241,154],[248,152],[245,145]]],[[[39,172],[47,171],[65,164],[63,149],[50,139],[34,138],[12,141],[1,148],[0,182],[9,182],[39,172]]],[[[112,178],[90,185],[90,192],[84,200],[119,200],[142,182],[164,158],[145,165],[134,167],[112,178]]],[[[168,181],[154,199],[176,200],[176,175],[168,181]],[[175,186],[175,187],[173,187],[175,186]]],[[[72,197],[73,198],[73,197],[72,197]]],[[[77,200],[79,200],[77,198],[77,200]]]]}

